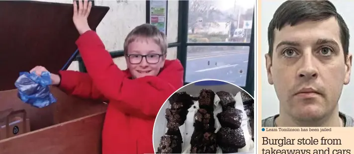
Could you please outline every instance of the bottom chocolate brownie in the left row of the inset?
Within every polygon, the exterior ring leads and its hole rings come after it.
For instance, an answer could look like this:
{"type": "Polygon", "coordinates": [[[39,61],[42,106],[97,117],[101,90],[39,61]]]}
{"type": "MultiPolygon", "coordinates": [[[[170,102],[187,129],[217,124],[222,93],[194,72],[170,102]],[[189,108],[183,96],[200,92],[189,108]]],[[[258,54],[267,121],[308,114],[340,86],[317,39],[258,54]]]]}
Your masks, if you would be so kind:
{"type": "Polygon", "coordinates": [[[156,154],[180,154],[182,153],[182,143],[181,136],[164,135],[161,137],[156,154]]]}

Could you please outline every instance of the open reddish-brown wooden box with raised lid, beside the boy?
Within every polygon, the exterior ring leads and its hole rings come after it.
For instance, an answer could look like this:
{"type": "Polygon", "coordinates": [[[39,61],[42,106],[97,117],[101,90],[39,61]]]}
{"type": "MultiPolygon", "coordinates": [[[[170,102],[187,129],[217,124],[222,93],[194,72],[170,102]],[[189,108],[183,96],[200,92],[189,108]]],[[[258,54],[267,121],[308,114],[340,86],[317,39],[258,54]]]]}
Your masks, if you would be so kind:
{"type": "MultiPolygon", "coordinates": [[[[108,10],[92,6],[91,29],[108,10]]],[[[22,102],[14,86],[20,72],[35,66],[51,73],[69,67],[78,53],[79,37],[72,16],[72,4],[0,1],[0,111],[25,110],[29,126],[28,133],[0,140],[0,154],[101,153],[106,104],[69,96],[53,86],[57,102],[36,108],[22,102]]]]}

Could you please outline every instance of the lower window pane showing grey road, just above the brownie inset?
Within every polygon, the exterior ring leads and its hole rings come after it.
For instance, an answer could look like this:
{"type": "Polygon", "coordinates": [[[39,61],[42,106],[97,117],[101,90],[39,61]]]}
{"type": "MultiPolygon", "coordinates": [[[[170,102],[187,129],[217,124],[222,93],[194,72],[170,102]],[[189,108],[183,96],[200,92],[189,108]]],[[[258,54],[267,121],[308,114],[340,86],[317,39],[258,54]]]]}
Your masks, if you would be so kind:
{"type": "Polygon", "coordinates": [[[188,46],[185,81],[221,79],[246,85],[248,46],[188,46]]]}

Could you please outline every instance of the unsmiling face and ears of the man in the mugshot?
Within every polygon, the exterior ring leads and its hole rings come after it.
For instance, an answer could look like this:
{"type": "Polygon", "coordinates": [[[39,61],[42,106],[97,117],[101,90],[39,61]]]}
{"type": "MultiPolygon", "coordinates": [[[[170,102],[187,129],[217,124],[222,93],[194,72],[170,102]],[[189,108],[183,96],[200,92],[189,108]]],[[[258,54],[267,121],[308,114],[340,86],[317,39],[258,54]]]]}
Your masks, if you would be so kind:
{"type": "Polygon", "coordinates": [[[350,80],[335,17],[274,30],[272,59],[266,54],[268,82],[274,84],[280,113],[320,120],[333,113],[343,84],[350,80]]]}

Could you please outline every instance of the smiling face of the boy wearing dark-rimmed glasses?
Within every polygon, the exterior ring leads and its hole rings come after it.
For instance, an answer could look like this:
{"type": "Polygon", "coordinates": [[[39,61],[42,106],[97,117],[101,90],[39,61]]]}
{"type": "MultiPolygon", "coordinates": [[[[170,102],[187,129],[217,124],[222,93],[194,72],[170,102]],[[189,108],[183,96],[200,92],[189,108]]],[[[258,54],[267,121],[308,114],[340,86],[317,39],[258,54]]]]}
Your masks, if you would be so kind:
{"type": "Polygon", "coordinates": [[[127,54],[125,59],[133,78],[157,76],[166,59],[160,46],[151,38],[138,37],[128,45],[127,54]]]}

